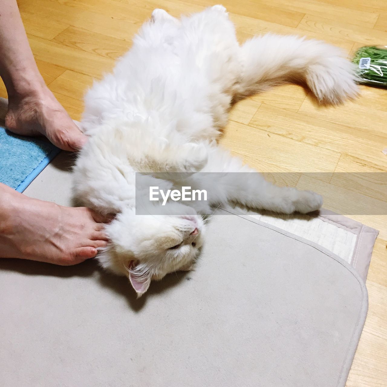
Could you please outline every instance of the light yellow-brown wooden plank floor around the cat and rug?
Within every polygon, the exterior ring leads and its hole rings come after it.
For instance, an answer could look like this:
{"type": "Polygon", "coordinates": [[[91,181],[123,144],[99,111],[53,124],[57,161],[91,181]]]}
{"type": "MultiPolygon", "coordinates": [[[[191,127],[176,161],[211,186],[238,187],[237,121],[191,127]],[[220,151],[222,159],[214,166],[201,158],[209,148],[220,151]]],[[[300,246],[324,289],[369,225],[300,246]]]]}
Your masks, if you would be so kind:
{"type": "MultiPolygon", "coordinates": [[[[93,77],[113,67],[153,9],[179,16],[213,4],[19,0],[39,69],[77,120],[93,77]]],[[[363,45],[387,45],[385,0],[226,0],[223,5],[241,41],[268,31],[306,35],[339,46],[348,56],[363,45]]],[[[3,85],[0,95],[6,97],[3,85]]],[[[361,87],[356,101],[324,108],[302,87],[287,85],[238,103],[230,118],[224,146],[260,171],[281,173],[269,174],[277,182],[320,192],[326,208],[380,230],[367,281],[368,317],[347,386],[387,386],[387,179],[381,183],[360,174],[333,174],[387,171],[382,153],[387,148],[387,91],[361,87]]]]}

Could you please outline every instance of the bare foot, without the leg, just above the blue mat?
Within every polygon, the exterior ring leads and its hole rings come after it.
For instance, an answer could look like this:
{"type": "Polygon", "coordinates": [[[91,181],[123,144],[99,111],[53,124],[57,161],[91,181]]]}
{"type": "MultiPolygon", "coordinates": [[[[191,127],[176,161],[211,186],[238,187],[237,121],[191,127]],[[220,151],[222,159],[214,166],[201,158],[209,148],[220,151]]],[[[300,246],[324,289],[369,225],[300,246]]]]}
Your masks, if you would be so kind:
{"type": "Polygon", "coordinates": [[[9,96],[5,126],[19,135],[44,135],[64,151],[76,151],[87,140],[45,85],[9,96]]]}

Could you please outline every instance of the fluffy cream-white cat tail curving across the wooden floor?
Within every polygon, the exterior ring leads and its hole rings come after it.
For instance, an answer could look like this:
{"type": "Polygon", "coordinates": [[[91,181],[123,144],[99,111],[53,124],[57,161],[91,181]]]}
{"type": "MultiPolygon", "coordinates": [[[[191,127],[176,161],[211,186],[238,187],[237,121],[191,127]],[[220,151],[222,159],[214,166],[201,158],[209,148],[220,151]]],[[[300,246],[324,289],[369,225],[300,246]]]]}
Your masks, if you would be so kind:
{"type": "Polygon", "coordinates": [[[243,72],[235,98],[289,81],[306,82],[320,102],[337,104],[358,93],[354,65],[318,40],[266,34],[241,46],[243,72]]]}

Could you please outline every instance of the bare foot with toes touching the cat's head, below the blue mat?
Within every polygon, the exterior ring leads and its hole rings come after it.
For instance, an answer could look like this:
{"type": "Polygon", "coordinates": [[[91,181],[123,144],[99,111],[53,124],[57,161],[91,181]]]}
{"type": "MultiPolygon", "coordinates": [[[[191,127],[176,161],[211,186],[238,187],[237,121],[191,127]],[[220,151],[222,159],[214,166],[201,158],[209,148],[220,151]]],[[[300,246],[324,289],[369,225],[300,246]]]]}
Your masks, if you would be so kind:
{"type": "Polygon", "coordinates": [[[0,257],[75,265],[107,245],[94,211],[62,207],[0,184],[0,257]]]}

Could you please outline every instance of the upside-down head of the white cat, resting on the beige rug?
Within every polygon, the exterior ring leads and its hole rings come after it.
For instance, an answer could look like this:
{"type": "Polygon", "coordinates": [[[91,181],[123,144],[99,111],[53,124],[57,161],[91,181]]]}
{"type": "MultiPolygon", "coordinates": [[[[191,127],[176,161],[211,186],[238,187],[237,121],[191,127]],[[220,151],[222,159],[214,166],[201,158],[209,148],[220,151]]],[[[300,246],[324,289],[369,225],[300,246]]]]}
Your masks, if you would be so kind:
{"type": "Polygon", "coordinates": [[[104,268],[127,276],[138,296],[152,279],[190,270],[203,244],[204,222],[194,209],[167,203],[163,212],[136,215],[127,209],[106,226],[111,243],[99,261],[104,268]]]}

